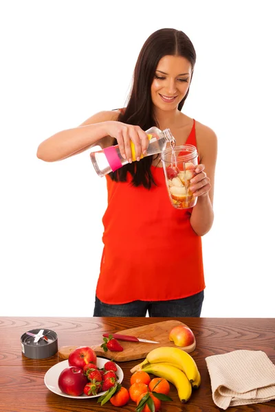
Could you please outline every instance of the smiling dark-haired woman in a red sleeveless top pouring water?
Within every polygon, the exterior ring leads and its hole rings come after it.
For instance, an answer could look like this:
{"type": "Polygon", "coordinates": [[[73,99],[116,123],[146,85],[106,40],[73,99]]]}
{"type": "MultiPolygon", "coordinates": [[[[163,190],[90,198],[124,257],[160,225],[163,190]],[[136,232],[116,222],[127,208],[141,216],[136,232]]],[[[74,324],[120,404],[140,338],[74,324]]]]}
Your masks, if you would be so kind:
{"type": "Polygon", "coordinates": [[[57,161],[92,146],[119,144],[129,163],[107,176],[104,250],[94,316],[199,317],[205,288],[201,236],[213,222],[214,132],[181,113],[195,66],[186,34],[162,29],[144,43],[126,108],[93,115],[77,128],[43,141],[39,159],[57,161]],[[170,128],[176,146],[193,144],[199,165],[190,189],[197,204],[170,205],[159,155],[146,152],[151,126],[170,128]],[[131,161],[130,141],[137,161],[131,161]]]}

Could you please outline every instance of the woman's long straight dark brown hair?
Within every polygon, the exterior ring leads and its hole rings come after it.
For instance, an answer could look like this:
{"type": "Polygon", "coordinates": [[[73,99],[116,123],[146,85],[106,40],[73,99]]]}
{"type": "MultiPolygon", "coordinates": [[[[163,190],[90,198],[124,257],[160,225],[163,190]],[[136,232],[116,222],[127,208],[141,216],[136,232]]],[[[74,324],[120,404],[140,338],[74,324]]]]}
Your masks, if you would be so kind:
{"type": "MultiPolygon", "coordinates": [[[[137,58],[129,102],[124,113],[120,113],[119,122],[135,124],[140,126],[142,130],[158,126],[153,117],[151,84],[158,62],[164,56],[182,56],[190,62],[192,69],[195,66],[196,52],[190,38],[184,32],[175,29],[160,29],[151,34],[142,46],[137,58]]],[[[179,110],[184,106],[188,92],[189,89],[179,102],[179,110]]],[[[116,140],[114,144],[117,144],[116,140]]],[[[130,172],[134,186],[144,185],[146,189],[150,189],[152,183],[155,184],[151,173],[152,161],[153,157],[148,156],[140,161],[128,163],[109,175],[114,181],[124,182],[127,172],[130,172]]]]}

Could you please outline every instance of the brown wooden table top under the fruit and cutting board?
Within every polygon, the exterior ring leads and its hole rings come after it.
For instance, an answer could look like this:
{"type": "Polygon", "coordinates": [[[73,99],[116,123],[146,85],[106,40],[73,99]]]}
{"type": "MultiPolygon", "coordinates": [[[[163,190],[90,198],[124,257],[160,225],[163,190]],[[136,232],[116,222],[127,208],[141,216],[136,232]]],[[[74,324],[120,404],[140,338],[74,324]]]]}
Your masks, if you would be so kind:
{"type": "MultiPolygon", "coordinates": [[[[95,399],[78,400],[52,393],[44,384],[45,373],[58,362],[58,356],[43,360],[25,358],[20,337],[36,328],[50,328],[58,334],[58,347],[63,345],[96,345],[102,343],[102,333],[118,332],[169,318],[36,318],[0,317],[0,411],[1,412],[113,412],[135,411],[131,400],[122,408],[110,402],[103,407],[95,399]]],[[[171,318],[170,318],[171,319],[171,318]]],[[[181,404],[171,385],[173,402],[162,402],[161,412],[221,411],[212,400],[206,356],[232,350],[263,350],[275,363],[275,319],[179,318],[194,332],[197,348],[192,352],[199,371],[201,387],[193,391],[187,404],[181,404]]],[[[130,369],[139,361],[120,363],[124,371],[123,384],[130,386],[130,369]]],[[[247,407],[231,407],[228,411],[275,410],[275,400],[247,407]]]]}

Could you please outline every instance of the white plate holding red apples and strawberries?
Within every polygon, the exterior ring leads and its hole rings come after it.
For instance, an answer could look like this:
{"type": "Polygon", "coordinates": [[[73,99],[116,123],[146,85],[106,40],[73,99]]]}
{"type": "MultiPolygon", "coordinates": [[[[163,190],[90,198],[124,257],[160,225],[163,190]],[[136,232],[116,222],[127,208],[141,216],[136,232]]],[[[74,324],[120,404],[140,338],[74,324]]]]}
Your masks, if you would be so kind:
{"type": "MultiPolygon", "coordinates": [[[[96,365],[99,368],[102,368],[106,362],[108,362],[109,359],[104,359],[104,358],[97,358],[96,365]]],[[[121,383],[123,379],[123,371],[121,367],[118,366],[117,363],[115,363],[116,367],[118,368],[118,371],[115,373],[118,375],[118,382],[121,383]]],[[[97,398],[98,396],[103,395],[107,391],[104,392],[98,392],[96,395],[92,396],[87,396],[83,393],[83,395],[80,396],[72,396],[72,395],[67,395],[67,393],[61,392],[61,390],[58,387],[58,378],[63,369],[66,367],[69,367],[69,362],[68,361],[63,361],[56,363],[56,365],[52,366],[45,374],[44,376],[44,382],[47,387],[47,389],[50,389],[50,391],[56,393],[57,395],[65,396],[65,398],[76,398],[76,399],[90,399],[90,398],[97,398]]]]}

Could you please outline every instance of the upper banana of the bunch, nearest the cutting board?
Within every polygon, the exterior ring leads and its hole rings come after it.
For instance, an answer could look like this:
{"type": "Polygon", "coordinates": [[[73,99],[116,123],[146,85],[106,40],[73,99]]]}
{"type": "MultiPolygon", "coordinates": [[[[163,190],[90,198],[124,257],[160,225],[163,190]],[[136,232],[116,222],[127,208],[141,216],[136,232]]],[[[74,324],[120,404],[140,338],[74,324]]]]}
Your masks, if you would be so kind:
{"type": "Polygon", "coordinates": [[[149,352],[142,363],[136,365],[131,369],[131,372],[141,370],[147,363],[168,362],[173,363],[174,366],[184,371],[190,382],[197,382],[199,369],[197,365],[187,352],[178,347],[157,347],[149,352]]]}

